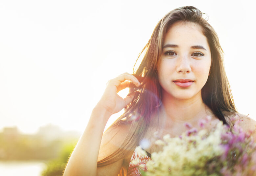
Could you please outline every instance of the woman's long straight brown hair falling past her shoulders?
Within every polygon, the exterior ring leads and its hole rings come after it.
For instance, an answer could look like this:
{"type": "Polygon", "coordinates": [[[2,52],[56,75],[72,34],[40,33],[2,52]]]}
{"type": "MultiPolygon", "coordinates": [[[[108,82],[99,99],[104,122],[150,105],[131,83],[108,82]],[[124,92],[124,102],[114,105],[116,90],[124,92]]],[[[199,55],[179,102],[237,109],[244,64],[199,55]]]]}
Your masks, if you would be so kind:
{"type": "Polygon", "coordinates": [[[133,150],[144,137],[151,117],[159,112],[162,104],[162,92],[158,82],[157,68],[166,32],[177,21],[193,22],[201,26],[202,32],[208,40],[212,57],[210,76],[202,88],[202,99],[219,120],[223,121],[223,124],[230,126],[224,116],[228,117],[227,114],[237,112],[237,110],[223,65],[223,50],[219,44],[217,33],[202,15],[203,13],[199,9],[185,6],[170,11],[158,22],[148,43],[139,54],[138,59],[144,53],[141,64],[136,71],[133,70],[133,74],[139,79],[142,86],[137,90],[131,84],[130,92],[136,90],[137,93],[130,105],[125,108],[125,112],[111,126],[130,123],[130,131],[122,146],[110,156],[98,161],[98,166],[112,164],[133,150]]]}

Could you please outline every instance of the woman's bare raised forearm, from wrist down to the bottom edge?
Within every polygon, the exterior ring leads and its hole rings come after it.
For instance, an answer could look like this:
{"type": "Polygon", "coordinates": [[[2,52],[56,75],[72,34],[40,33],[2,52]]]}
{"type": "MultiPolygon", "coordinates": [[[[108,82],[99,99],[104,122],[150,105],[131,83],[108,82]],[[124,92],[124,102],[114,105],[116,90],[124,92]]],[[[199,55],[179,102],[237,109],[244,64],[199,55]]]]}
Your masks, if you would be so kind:
{"type": "Polygon", "coordinates": [[[64,176],[96,176],[102,134],[110,116],[100,106],[92,110],[88,125],[69,158],[64,176]]]}

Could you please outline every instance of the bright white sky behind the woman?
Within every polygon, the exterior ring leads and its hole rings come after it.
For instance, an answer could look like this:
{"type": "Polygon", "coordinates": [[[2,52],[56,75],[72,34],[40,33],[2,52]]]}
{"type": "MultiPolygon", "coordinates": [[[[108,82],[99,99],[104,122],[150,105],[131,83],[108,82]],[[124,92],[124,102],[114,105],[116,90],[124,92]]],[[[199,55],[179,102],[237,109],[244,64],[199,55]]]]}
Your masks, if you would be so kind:
{"type": "Polygon", "coordinates": [[[132,73],[157,22],[185,5],[209,15],[236,106],[256,120],[255,4],[229,2],[1,0],[0,129],[84,131],[107,81],[132,73]]]}

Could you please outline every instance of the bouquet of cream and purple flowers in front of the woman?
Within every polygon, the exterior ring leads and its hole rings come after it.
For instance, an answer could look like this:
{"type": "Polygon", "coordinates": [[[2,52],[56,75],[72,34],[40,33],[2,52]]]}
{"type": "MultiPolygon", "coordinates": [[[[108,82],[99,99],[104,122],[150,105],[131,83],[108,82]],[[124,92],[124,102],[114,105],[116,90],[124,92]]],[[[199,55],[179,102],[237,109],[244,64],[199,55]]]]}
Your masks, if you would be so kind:
{"type": "MultiPolygon", "coordinates": [[[[208,119],[209,120],[209,119],[208,119]]],[[[151,154],[151,161],[140,166],[143,176],[256,176],[256,144],[249,133],[233,130],[219,121],[207,131],[207,120],[200,130],[185,124],[187,131],[179,137],[165,135],[156,144],[163,150],[151,154]],[[144,167],[144,168],[143,168],[144,167]]],[[[143,152],[143,151],[141,151],[143,152]]]]}

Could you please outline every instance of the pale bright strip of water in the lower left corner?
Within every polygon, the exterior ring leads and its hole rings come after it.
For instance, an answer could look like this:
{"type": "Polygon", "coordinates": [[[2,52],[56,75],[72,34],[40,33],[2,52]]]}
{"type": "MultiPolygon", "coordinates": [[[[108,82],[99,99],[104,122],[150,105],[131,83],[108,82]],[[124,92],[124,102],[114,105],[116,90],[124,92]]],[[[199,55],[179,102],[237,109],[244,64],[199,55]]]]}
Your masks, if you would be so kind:
{"type": "Polygon", "coordinates": [[[43,162],[3,162],[0,161],[1,176],[41,176],[42,170],[46,167],[43,162]]]}

